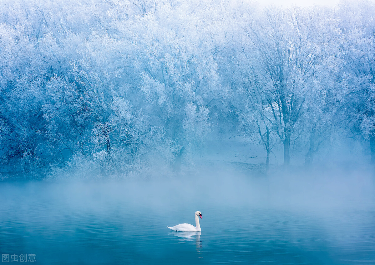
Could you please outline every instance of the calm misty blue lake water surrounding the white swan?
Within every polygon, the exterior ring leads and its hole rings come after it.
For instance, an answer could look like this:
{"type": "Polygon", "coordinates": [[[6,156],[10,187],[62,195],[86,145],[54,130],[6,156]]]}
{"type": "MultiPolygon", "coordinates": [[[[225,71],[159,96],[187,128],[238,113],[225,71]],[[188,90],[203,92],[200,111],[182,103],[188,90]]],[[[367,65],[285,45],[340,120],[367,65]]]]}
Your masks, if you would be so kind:
{"type": "Polygon", "coordinates": [[[3,182],[0,254],[17,255],[9,264],[26,264],[26,253],[34,264],[375,263],[368,204],[306,209],[261,203],[270,194],[255,184],[237,193],[225,183],[214,192],[195,184],[3,182]],[[201,232],[166,228],[194,225],[196,210],[201,232]]]}

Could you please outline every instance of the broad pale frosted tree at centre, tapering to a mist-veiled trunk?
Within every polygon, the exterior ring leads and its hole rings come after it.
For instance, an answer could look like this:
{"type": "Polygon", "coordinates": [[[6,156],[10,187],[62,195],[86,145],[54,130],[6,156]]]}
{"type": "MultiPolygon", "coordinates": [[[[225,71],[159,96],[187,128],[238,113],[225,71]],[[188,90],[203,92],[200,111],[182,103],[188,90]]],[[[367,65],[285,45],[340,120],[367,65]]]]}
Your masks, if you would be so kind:
{"type": "Polygon", "coordinates": [[[207,104],[214,97],[210,91],[220,86],[215,58],[224,33],[211,30],[212,24],[223,22],[219,16],[205,20],[204,7],[187,1],[160,2],[154,12],[136,17],[130,25],[123,22],[120,28],[131,38],[132,67],[139,73],[144,109],[180,146],[177,168],[182,156],[197,150],[209,131],[207,104]]]}

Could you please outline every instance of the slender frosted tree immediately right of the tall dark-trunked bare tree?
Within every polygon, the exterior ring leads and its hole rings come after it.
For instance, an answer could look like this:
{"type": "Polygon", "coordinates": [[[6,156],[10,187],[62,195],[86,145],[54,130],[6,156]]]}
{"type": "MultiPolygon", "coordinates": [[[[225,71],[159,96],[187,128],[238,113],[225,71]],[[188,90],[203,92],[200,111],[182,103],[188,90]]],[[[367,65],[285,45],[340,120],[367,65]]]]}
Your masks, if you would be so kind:
{"type": "Polygon", "coordinates": [[[314,155],[325,145],[332,145],[338,132],[341,107],[345,91],[342,89],[340,75],[343,57],[341,44],[343,38],[338,28],[338,19],[332,10],[317,10],[315,16],[315,49],[316,60],[312,65],[311,76],[306,79],[303,115],[299,121],[301,138],[308,151],[305,155],[305,166],[310,167],[314,155]]]}

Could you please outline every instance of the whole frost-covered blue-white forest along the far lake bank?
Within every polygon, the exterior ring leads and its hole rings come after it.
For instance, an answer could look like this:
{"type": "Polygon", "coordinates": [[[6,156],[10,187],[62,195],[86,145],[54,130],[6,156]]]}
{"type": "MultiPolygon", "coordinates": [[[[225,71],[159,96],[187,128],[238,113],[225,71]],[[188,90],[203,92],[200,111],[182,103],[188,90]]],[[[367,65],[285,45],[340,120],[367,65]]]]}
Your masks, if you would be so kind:
{"type": "Polygon", "coordinates": [[[178,172],[238,135],[265,168],[274,150],[311,167],[347,139],[375,163],[374,15],[371,1],[2,1],[0,177],[178,172]]]}

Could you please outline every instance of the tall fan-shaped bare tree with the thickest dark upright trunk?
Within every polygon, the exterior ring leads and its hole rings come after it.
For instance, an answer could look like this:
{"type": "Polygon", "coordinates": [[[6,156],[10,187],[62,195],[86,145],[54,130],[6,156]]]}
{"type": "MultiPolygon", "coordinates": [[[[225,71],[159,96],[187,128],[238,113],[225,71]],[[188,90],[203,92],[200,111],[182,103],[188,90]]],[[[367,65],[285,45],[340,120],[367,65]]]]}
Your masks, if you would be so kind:
{"type": "Polygon", "coordinates": [[[291,136],[303,114],[305,92],[319,58],[316,13],[315,9],[272,7],[261,17],[245,17],[241,25],[242,53],[261,78],[261,93],[272,113],[269,121],[284,146],[286,166],[291,136]]]}

